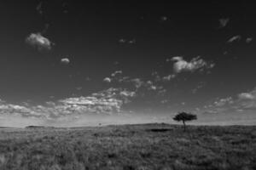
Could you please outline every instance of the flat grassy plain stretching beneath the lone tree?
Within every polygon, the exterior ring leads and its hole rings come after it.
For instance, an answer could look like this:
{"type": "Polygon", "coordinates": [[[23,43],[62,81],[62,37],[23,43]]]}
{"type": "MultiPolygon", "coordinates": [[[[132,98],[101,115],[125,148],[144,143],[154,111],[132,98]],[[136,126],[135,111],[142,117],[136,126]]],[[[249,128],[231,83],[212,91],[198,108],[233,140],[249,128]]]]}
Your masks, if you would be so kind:
{"type": "Polygon", "coordinates": [[[0,169],[256,169],[256,127],[1,128],[0,169]]]}

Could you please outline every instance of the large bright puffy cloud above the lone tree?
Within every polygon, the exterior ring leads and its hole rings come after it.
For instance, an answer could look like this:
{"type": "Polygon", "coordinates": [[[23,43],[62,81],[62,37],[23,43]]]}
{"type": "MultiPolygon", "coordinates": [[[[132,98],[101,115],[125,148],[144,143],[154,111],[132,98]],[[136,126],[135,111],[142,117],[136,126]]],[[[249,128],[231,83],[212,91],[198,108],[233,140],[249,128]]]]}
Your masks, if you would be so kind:
{"type": "Polygon", "coordinates": [[[193,72],[196,70],[203,71],[205,69],[211,69],[214,67],[213,63],[207,63],[207,61],[201,59],[200,56],[195,57],[190,61],[186,61],[183,59],[183,57],[177,56],[173,57],[172,61],[174,61],[173,70],[175,73],[180,73],[183,71],[193,72]]]}

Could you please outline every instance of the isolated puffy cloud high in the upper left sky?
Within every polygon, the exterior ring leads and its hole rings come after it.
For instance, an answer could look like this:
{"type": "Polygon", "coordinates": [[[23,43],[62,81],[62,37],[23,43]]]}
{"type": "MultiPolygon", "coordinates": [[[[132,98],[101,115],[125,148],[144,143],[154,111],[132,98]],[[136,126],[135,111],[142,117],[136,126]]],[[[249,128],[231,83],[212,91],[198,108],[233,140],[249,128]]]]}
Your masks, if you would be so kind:
{"type": "Polygon", "coordinates": [[[31,45],[33,48],[41,50],[50,50],[53,43],[48,38],[43,37],[40,33],[32,33],[26,37],[26,43],[31,45]]]}

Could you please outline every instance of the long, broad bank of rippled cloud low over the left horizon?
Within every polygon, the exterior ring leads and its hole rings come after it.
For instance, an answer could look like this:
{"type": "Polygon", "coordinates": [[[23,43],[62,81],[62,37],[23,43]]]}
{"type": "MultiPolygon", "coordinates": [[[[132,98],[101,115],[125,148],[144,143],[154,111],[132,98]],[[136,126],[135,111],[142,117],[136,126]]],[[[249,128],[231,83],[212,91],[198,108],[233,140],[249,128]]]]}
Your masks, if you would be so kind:
{"type": "Polygon", "coordinates": [[[136,92],[123,88],[108,88],[89,96],[49,101],[44,105],[13,105],[0,103],[0,116],[35,117],[42,120],[55,120],[63,116],[86,114],[120,114],[122,106],[131,102],[136,92]]]}

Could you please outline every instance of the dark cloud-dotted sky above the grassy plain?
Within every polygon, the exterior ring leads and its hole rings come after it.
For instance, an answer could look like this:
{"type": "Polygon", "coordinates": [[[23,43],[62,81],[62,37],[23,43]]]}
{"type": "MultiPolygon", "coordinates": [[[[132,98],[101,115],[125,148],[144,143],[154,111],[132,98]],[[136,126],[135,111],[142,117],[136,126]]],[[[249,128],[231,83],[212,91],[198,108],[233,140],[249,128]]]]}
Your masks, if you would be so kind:
{"type": "Polygon", "coordinates": [[[0,126],[256,124],[253,3],[0,3],[0,126]],[[192,122],[193,123],[193,122],[192,122]]]}

